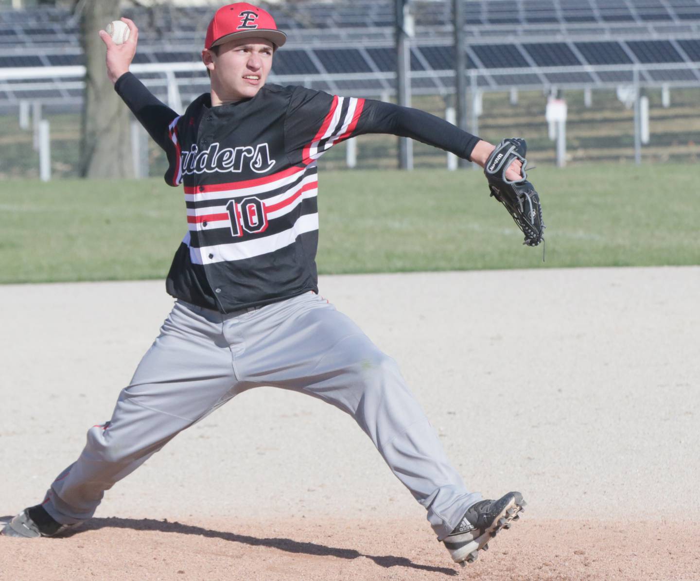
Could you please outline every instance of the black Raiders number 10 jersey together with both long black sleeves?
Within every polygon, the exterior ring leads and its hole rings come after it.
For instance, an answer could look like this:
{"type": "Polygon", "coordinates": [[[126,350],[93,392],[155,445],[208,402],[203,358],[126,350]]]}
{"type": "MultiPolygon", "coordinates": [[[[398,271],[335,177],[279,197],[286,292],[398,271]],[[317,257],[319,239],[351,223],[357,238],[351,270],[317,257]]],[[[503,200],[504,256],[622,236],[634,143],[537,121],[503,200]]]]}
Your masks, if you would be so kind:
{"type": "Polygon", "coordinates": [[[423,111],[298,86],[214,107],[203,94],[181,116],[131,73],[116,90],[167,153],[167,183],[184,186],[167,290],[222,313],[318,292],[316,160],[330,147],[390,133],[469,158],[479,141],[423,111]]]}

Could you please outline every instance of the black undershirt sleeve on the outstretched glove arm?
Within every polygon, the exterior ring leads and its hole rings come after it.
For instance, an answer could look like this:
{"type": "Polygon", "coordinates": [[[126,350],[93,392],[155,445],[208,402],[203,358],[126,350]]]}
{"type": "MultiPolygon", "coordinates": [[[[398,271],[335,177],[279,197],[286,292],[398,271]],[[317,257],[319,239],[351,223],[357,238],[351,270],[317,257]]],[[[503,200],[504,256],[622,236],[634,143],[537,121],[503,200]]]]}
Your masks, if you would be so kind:
{"type": "Polygon", "coordinates": [[[353,135],[389,133],[410,137],[424,144],[470,159],[479,137],[458,129],[444,119],[421,111],[366,99],[357,130],[353,135]]]}

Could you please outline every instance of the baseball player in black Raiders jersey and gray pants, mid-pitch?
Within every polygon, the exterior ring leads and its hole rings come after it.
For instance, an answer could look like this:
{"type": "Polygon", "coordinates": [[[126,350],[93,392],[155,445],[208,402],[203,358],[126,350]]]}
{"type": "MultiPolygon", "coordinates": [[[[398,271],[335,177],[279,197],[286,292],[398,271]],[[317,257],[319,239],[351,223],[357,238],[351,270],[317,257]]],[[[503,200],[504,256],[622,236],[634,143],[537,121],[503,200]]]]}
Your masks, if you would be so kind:
{"type": "MultiPolygon", "coordinates": [[[[494,146],[423,111],[267,84],[286,41],[269,13],[223,6],[202,50],[211,91],[181,115],[129,72],[138,29],[113,43],[115,89],[167,153],[165,180],[183,184],[188,231],[167,275],[176,302],[120,392],[111,419],[87,432],[78,459],[43,502],[4,535],[50,537],[90,519],[104,492],[181,430],[256,386],[307,393],[350,414],[426,508],[462,565],[525,505],[466,488],[393,359],[318,295],[316,160],[367,133],[412,137],[484,165],[494,146]]],[[[508,172],[520,176],[515,160],[508,172]]]]}

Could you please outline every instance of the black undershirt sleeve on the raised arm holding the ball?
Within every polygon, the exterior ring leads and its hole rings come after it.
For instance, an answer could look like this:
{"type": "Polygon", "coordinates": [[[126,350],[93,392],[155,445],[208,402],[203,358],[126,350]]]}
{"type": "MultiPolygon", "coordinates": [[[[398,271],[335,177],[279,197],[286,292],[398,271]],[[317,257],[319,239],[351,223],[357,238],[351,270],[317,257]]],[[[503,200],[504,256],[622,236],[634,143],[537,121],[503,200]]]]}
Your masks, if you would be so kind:
{"type": "Polygon", "coordinates": [[[178,114],[155,97],[132,73],[124,73],[120,76],[114,85],[114,90],[131,109],[153,141],[166,152],[169,151],[172,148],[172,142],[168,137],[168,126],[178,114]]]}

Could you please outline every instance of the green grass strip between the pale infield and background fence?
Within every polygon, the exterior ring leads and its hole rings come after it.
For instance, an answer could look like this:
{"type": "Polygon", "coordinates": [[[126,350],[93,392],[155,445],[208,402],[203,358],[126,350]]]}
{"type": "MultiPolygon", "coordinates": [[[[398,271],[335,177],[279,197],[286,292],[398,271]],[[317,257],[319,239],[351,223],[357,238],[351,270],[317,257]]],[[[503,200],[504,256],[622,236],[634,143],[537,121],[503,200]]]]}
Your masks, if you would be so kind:
{"type": "MultiPolygon", "coordinates": [[[[697,171],[536,169],[546,262],[481,172],[321,171],[319,271],[700,264],[697,171]]],[[[186,232],[181,189],[158,179],[0,186],[0,283],[162,278],[186,232]]]]}

